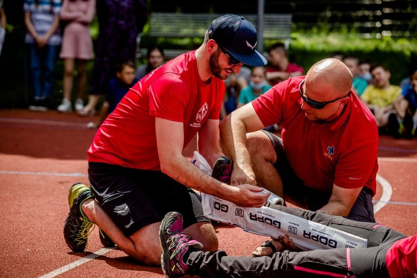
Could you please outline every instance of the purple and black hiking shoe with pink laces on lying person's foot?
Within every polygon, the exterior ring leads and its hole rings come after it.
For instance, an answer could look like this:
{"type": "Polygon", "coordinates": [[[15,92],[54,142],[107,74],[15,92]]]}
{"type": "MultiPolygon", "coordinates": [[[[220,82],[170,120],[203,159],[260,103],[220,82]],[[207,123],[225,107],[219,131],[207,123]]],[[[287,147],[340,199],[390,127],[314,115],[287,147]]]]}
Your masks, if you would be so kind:
{"type": "Polygon", "coordinates": [[[162,220],[159,235],[163,249],[163,274],[170,278],[192,274],[185,261],[191,251],[201,250],[203,244],[191,240],[191,236],[184,233],[183,216],[178,212],[168,212],[162,220]]]}

